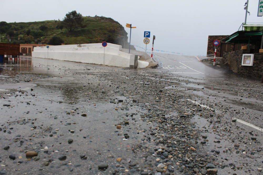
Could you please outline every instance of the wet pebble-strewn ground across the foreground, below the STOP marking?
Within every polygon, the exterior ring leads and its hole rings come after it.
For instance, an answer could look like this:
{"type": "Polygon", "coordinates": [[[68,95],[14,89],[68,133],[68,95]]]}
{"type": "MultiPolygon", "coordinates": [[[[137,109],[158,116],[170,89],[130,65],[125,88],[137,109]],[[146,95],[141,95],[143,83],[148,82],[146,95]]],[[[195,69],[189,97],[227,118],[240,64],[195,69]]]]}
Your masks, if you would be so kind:
{"type": "Polygon", "coordinates": [[[236,120],[263,127],[257,81],[26,57],[2,68],[0,174],[262,174],[262,131],[236,120]]]}

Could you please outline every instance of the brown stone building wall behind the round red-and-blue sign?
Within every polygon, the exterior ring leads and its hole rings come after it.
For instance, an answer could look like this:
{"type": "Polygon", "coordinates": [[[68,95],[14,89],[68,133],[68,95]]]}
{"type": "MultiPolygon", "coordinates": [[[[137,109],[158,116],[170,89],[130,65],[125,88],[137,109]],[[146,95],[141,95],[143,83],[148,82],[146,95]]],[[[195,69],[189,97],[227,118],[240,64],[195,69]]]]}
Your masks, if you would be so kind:
{"type": "MultiPolygon", "coordinates": [[[[222,39],[226,38],[227,36],[229,35],[211,35],[211,36],[208,36],[208,44],[207,44],[207,55],[213,55],[215,54],[215,49],[214,49],[214,45],[213,45],[213,41],[214,40],[219,40],[220,43],[225,43],[225,42],[222,42],[222,39]]],[[[232,48],[231,48],[232,50],[232,48]]],[[[216,56],[217,57],[220,57],[220,53],[221,53],[221,46],[219,46],[217,49],[216,49],[216,56]]],[[[222,56],[222,55],[221,55],[222,56]]]]}

